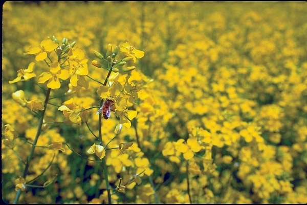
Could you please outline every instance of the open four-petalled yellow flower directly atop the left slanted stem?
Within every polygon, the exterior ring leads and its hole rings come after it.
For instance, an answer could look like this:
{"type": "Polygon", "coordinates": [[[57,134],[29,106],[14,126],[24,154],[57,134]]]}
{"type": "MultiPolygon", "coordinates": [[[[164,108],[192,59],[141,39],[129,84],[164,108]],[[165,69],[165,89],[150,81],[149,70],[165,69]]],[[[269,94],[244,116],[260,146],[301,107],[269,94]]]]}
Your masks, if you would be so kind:
{"type": "Polygon", "coordinates": [[[53,62],[50,65],[50,72],[43,72],[38,76],[38,83],[45,83],[48,80],[47,87],[51,89],[58,89],[61,87],[60,79],[67,79],[69,78],[69,71],[68,70],[61,70],[61,67],[58,61],[53,62]]]}

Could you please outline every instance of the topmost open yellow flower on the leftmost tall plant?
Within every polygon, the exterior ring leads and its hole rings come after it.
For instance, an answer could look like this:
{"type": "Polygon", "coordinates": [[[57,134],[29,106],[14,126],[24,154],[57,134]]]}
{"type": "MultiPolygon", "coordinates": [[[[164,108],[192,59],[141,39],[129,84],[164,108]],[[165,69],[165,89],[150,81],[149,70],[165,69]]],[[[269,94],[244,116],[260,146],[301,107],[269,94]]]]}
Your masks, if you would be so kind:
{"type": "Polygon", "coordinates": [[[45,60],[48,57],[47,52],[51,52],[58,47],[58,44],[53,42],[50,39],[42,40],[39,46],[31,46],[28,50],[27,54],[35,54],[35,60],[45,60]]]}

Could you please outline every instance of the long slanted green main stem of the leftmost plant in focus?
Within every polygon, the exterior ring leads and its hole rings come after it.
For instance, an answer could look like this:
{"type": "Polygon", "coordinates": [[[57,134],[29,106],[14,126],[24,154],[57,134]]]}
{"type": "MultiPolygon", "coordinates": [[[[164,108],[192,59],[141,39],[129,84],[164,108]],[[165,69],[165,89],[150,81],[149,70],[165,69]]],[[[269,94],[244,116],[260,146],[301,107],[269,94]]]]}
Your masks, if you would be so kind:
{"type": "MultiPolygon", "coordinates": [[[[34,154],[34,150],[35,150],[35,147],[36,147],[36,144],[37,144],[38,137],[39,137],[39,135],[41,133],[42,121],[43,121],[43,117],[45,116],[45,111],[47,109],[50,92],[51,92],[51,89],[49,88],[48,91],[47,91],[47,94],[46,94],[45,103],[43,105],[43,107],[45,109],[43,111],[41,111],[41,115],[40,115],[40,118],[39,118],[39,123],[38,123],[38,126],[37,126],[36,136],[34,138],[33,146],[31,147],[31,151],[30,151],[30,154],[29,154],[27,162],[26,162],[26,167],[25,167],[24,175],[23,175],[24,179],[26,179],[26,177],[27,177],[29,166],[30,166],[30,161],[31,161],[32,156],[34,154]]],[[[16,197],[15,197],[15,200],[14,200],[14,203],[18,202],[20,194],[21,194],[21,190],[18,190],[18,192],[16,194],[16,197]]]]}

